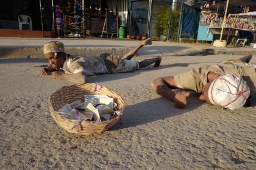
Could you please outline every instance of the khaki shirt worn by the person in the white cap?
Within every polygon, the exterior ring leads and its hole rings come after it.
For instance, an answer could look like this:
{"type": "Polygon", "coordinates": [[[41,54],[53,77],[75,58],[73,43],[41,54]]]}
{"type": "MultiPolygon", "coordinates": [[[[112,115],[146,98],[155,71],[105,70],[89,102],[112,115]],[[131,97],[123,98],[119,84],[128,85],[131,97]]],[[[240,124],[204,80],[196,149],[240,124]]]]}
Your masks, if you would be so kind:
{"type": "Polygon", "coordinates": [[[196,67],[190,72],[180,73],[174,76],[174,81],[177,87],[181,89],[194,90],[202,93],[202,89],[207,84],[207,75],[209,72],[219,73],[224,75],[227,73],[241,75],[247,81],[251,95],[256,92],[256,65],[245,63],[241,60],[229,60],[221,64],[206,65],[196,67]]]}

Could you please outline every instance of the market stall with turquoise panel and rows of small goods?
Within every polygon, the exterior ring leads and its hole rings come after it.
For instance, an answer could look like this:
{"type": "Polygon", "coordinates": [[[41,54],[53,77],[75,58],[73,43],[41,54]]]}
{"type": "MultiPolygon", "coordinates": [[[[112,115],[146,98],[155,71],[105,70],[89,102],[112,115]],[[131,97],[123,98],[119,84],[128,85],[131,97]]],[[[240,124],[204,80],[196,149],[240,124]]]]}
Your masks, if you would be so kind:
{"type": "Polygon", "coordinates": [[[201,10],[197,41],[220,39],[234,45],[236,39],[255,42],[256,0],[187,0],[185,3],[201,10]]]}

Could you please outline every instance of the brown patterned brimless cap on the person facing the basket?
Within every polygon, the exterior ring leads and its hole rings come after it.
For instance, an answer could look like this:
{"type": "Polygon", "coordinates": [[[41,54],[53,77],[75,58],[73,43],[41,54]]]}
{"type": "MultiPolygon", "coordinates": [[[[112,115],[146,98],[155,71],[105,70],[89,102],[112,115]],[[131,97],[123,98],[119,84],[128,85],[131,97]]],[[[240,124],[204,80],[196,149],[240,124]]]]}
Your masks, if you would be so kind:
{"type": "Polygon", "coordinates": [[[64,44],[59,41],[50,41],[44,44],[43,46],[43,54],[46,53],[58,53],[58,52],[65,52],[64,44]]]}

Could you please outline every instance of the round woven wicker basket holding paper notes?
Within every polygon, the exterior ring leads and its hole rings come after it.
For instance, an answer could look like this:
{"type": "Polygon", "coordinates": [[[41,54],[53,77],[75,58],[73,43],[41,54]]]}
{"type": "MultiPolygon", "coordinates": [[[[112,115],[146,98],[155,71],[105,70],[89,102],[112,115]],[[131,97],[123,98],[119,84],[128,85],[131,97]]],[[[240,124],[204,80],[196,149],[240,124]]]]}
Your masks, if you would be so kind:
{"type": "Polygon", "coordinates": [[[119,120],[121,120],[121,114],[119,114],[111,120],[107,121],[82,121],[80,123],[81,129],[78,130],[77,128],[72,129],[72,127],[76,126],[77,124],[76,120],[69,120],[68,118],[62,117],[58,112],[56,112],[56,110],[59,110],[60,107],[64,106],[66,103],[72,103],[76,100],[84,101],[84,95],[86,94],[107,95],[108,97],[112,97],[117,104],[117,109],[121,112],[124,111],[124,101],[121,97],[119,97],[119,95],[107,89],[106,87],[102,87],[102,89],[98,89],[94,92],[94,87],[95,84],[93,83],[65,86],[51,95],[48,101],[49,109],[52,117],[60,127],[70,133],[79,135],[91,135],[107,131],[108,128],[112,127],[119,120]]]}

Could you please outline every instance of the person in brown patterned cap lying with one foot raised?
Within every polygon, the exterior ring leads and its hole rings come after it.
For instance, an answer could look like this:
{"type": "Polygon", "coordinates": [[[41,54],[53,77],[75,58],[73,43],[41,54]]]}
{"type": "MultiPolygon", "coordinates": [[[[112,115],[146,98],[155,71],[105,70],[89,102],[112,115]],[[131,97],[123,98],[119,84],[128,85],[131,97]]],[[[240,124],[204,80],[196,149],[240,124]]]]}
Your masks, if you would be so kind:
{"type": "Polygon", "coordinates": [[[71,83],[86,83],[88,75],[98,75],[103,73],[121,73],[133,72],[142,67],[154,64],[154,67],[159,67],[162,57],[146,59],[141,62],[131,61],[135,53],[143,46],[151,45],[150,38],[141,41],[130,52],[124,55],[112,56],[107,53],[101,56],[71,56],[65,53],[64,44],[59,41],[51,41],[44,44],[44,57],[48,60],[48,68],[43,68],[43,75],[52,74],[55,79],[69,81],[71,83]],[[56,72],[63,70],[65,73],[56,72]]]}

